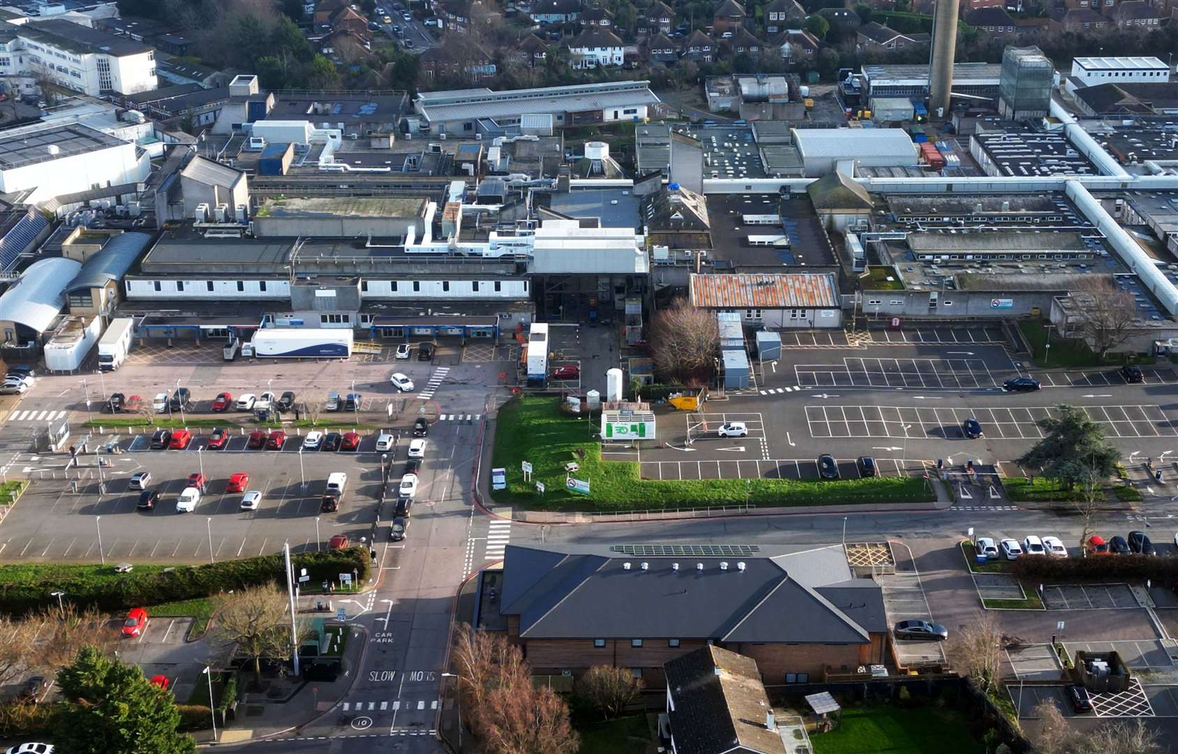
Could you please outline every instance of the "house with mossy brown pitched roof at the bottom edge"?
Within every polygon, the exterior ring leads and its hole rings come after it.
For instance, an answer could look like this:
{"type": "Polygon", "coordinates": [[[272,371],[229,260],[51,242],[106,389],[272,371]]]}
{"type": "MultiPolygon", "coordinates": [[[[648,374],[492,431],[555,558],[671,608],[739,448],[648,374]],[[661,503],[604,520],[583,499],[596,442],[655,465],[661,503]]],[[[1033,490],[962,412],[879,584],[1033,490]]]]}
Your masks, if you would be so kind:
{"type": "MultiPolygon", "coordinates": [[[[788,754],[752,657],[700,647],[663,664],[673,754],[788,754]]],[[[785,733],[785,735],[792,734],[785,733]]]]}

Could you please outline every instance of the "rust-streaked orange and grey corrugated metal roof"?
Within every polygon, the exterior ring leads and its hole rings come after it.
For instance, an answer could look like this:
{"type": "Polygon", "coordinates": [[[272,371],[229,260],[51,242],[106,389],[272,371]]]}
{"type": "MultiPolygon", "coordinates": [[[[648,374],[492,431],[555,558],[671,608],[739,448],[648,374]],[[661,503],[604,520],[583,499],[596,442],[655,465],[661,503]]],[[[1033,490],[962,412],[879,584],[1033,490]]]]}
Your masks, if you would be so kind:
{"type": "Polygon", "coordinates": [[[693,275],[691,303],[709,309],[830,309],[839,295],[830,273],[693,275]]]}

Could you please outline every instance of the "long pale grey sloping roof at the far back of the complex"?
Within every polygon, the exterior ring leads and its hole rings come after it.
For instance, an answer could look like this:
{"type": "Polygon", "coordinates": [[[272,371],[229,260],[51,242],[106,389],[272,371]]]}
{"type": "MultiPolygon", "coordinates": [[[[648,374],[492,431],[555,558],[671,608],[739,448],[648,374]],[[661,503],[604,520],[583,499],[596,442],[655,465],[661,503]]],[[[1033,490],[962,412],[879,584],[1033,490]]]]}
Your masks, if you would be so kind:
{"type": "Polygon", "coordinates": [[[649,81],[613,81],[492,92],[488,88],[423,92],[416,107],[431,123],[476,120],[528,113],[565,113],[605,107],[654,105],[649,81]]]}

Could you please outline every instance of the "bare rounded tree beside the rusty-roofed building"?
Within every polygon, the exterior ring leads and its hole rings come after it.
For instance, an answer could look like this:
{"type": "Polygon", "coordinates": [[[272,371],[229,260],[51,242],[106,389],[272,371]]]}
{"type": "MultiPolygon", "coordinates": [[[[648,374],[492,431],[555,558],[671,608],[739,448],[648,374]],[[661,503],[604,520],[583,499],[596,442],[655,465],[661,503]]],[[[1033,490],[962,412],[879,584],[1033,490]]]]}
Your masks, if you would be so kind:
{"type": "Polygon", "coordinates": [[[715,312],[676,299],[655,315],[650,357],[663,379],[706,379],[715,366],[720,326],[715,312]]]}

